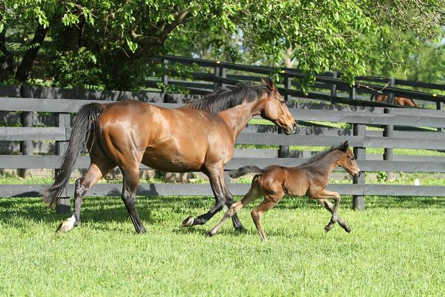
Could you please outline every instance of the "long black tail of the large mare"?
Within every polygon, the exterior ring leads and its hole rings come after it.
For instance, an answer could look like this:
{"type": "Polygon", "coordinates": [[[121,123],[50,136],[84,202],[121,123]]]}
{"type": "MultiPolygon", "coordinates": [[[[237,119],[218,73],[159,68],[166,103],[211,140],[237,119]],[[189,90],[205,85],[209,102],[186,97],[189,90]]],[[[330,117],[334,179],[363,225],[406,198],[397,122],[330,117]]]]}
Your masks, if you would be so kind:
{"type": "MultiPolygon", "coordinates": [[[[52,186],[45,188],[44,191],[40,193],[42,200],[49,204],[50,208],[54,207],[68,179],[70,179],[74,163],[76,163],[77,156],[79,156],[83,149],[83,143],[88,143],[91,130],[93,131],[92,137],[95,138],[97,119],[102,109],[104,109],[102,104],[91,103],[82,106],[79,113],[77,113],[74,126],[72,127],[70,144],[63,155],[63,163],[62,166],[60,166],[56,180],[52,186]]],[[[91,143],[94,143],[94,139],[92,139],[91,143]]]]}

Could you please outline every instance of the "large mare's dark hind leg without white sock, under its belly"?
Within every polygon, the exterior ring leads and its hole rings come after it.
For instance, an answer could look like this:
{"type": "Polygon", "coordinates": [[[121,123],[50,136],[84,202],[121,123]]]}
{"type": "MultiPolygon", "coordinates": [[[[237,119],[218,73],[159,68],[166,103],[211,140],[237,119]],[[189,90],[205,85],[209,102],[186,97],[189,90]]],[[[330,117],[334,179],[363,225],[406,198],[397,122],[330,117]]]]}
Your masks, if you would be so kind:
{"type": "Polygon", "coordinates": [[[131,222],[133,222],[136,233],[145,233],[145,227],[140,221],[138,209],[136,209],[136,189],[139,182],[138,166],[131,168],[120,168],[124,177],[122,186],[122,200],[130,215],[131,222]]]}

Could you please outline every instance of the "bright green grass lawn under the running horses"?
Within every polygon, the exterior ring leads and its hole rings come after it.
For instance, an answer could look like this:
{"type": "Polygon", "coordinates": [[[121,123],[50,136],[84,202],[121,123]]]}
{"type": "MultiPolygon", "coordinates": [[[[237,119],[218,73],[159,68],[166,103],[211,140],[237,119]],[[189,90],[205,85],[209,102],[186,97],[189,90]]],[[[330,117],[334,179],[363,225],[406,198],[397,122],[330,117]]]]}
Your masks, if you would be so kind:
{"type": "MultiPolygon", "coordinates": [[[[239,198],[237,198],[239,199],[239,198]]],[[[213,198],[138,197],[147,234],[134,233],[120,198],[86,198],[82,224],[54,234],[66,216],[38,198],[0,199],[0,296],[405,296],[445,291],[445,198],[367,197],[365,211],[342,200],[339,226],[305,198],[264,217],[259,240],[227,223],[179,227],[213,198]]]]}

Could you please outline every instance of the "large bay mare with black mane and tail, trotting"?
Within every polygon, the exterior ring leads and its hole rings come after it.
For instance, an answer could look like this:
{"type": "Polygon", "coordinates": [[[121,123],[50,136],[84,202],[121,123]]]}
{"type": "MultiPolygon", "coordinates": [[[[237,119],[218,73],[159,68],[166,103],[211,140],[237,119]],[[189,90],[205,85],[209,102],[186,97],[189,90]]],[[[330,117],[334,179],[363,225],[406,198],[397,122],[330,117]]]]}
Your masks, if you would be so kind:
{"type": "MultiPolygon", "coordinates": [[[[184,227],[202,225],[232,198],[224,179],[224,166],[232,159],[238,134],[254,115],[271,120],[292,134],[296,121],[270,79],[261,86],[241,84],[220,90],[179,109],[164,109],[127,100],[111,104],[87,104],[76,115],[72,136],[54,184],[42,192],[42,200],[52,207],[70,178],[84,141],[90,150],[90,167],[76,180],[74,214],[60,223],[65,232],[80,223],[83,196],[106,173],[118,166],[123,175],[122,200],[138,233],[145,227],[136,209],[136,188],[140,163],[168,172],[204,172],[216,202],[201,216],[190,216],[184,227]]],[[[237,230],[244,230],[237,217],[237,230]]]]}

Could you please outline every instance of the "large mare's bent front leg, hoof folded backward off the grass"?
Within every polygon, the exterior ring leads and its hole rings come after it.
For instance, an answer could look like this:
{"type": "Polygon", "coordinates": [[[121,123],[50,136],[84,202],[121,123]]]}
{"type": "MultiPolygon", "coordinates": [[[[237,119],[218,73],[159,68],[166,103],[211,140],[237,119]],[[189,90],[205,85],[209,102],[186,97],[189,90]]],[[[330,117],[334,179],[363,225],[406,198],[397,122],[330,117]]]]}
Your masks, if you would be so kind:
{"type": "Polygon", "coordinates": [[[210,179],[210,186],[213,191],[213,195],[215,195],[215,204],[205,214],[197,216],[196,218],[193,218],[193,216],[189,216],[188,218],[186,218],[181,224],[182,227],[189,227],[193,225],[204,225],[218,211],[223,209],[223,206],[226,202],[226,197],[223,189],[223,182],[224,182],[223,166],[214,166],[213,168],[209,168],[205,173],[210,179]]]}

